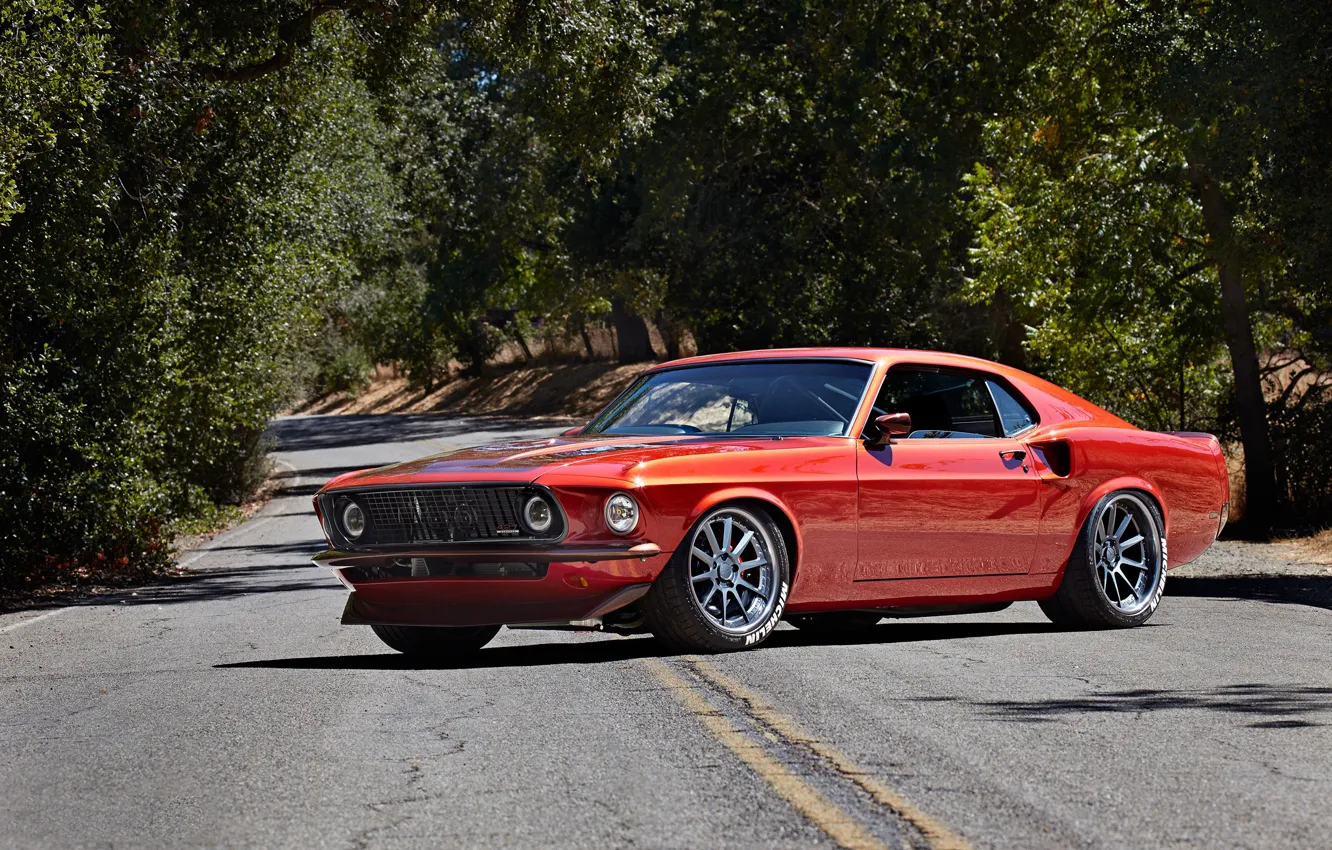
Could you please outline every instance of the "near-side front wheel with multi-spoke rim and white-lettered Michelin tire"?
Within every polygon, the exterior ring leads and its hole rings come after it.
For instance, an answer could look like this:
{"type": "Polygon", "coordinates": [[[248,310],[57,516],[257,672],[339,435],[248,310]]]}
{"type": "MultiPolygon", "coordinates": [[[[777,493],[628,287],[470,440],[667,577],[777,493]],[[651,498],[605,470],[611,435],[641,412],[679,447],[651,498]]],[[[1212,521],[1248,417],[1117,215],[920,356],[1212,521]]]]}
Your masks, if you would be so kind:
{"type": "Polygon", "coordinates": [[[645,598],[653,634],[685,651],[729,651],[762,642],[782,618],[790,565],[766,510],[707,512],[645,598]]]}

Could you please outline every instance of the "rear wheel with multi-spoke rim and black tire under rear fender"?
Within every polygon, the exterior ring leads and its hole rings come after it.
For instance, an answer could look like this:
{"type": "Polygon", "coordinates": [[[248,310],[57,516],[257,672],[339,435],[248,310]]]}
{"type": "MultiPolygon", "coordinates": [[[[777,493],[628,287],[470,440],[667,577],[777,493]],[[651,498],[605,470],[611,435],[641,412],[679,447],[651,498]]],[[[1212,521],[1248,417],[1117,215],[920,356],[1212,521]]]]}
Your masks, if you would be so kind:
{"type": "MultiPolygon", "coordinates": [[[[1139,490],[1115,490],[1102,497],[1087,516],[1078,541],[1074,544],[1059,589],[1047,600],[1040,600],[1040,610],[1051,622],[1071,629],[1126,629],[1140,626],[1151,620],[1160,605],[1166,590],[1166,524],[1156,504],[1139,490]],[[1116,512],[1110,514],[1107,512],[1116,512]],[[1122,569],[1119,576],[1104,570],[1111,558],[1104,557],[1103,542],[1107,521],[1111,525],[1122,522],[1124,514],[1132,514],[1132,522],[1142,537],[1139,544],[1119,549],[1115,553],[1140,553],[1146,572],[1130,568],[1132,581],[1122,569]],[[1102,534],[1098,536],[1098,529],[1102,534]],[[1119,601],[1111,597],[1119,597],[1119,601]],[[1131,597],[1132,602],[1124,601],[1131,597]]],[[[1132,530],[1126,532],[1134,534],[1132,530]]],[[[1132,540],[1130,537],[1130,540],[1132,540]]]]}

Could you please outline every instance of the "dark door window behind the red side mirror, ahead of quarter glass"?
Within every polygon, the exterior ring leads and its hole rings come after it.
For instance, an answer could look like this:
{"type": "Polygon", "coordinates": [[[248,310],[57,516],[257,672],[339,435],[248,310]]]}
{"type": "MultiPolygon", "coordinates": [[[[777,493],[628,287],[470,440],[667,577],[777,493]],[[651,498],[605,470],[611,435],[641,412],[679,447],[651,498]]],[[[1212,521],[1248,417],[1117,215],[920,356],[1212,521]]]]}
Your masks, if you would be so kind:
{"type": "Polygon", "coordinates": [[[972,372],[898,366],[883,377],[874,416],[910,414],[911,440],[1000,437],[1004,428],[988,384],[972,372]]]}

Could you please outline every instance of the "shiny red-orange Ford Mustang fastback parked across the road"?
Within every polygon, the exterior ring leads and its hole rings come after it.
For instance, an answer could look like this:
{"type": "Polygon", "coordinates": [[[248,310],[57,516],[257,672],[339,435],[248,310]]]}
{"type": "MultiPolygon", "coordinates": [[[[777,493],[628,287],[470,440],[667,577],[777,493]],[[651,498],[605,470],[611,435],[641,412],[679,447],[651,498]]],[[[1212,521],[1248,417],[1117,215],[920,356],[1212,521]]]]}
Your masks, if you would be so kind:
{"type": "Polygon", "coordinates": [[[1016,600],[1134,626],[1228,500],[1216,437],[1139,430],[1016,369],[763,350],[650,369],[558,438],[340,476],[314,497],[314,561],[352,590],[344,624],[433,657],[501,625],[722,651],[782,618],[855,629],[1016,600]]]}

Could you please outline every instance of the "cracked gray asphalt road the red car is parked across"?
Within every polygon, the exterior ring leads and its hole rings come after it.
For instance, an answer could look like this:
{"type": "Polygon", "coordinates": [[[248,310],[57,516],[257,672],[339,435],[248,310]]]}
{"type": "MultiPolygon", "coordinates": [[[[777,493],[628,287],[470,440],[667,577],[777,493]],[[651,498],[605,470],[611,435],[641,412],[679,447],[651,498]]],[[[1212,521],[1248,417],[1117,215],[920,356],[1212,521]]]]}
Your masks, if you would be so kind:
{"type": "Polygon", "coordinates": [[[280,421],[297,472],[190,580],[0,617],[0,847],[1332,846],[1332,576],[709,659],[505,630],[425,669],[338,625],[320,482],[553,430],[280,421]]]}

